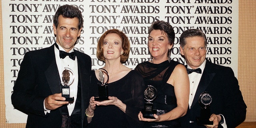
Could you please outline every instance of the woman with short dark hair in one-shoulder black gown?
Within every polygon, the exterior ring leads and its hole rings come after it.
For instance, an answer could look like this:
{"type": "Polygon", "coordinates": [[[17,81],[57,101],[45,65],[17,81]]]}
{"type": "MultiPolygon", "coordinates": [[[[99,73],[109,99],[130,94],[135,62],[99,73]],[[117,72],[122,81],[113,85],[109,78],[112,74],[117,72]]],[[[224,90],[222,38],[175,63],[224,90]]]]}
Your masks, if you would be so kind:
{"type": "Polygon", "coordinates": [[[157,110],[156,119],[143,118],[145,128],[176,128],[180,126],[178,118],[188,109],[189,78],[184,65],[170,59],[174,43],[174,30],[164,21],[156,21],[150,26],[148,49],[151,61],[142,62],[135,68],[144,78],[145,85],[154,86],[157,96],[153,108],[157,110]]]}

